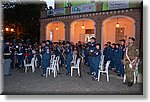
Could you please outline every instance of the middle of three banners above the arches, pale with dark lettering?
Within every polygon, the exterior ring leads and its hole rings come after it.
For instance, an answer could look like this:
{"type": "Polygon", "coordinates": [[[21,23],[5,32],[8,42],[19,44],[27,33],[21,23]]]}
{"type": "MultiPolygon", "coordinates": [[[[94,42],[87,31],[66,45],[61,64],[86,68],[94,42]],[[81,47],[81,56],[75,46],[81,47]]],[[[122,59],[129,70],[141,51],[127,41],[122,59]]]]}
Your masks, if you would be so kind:
{"type": "Polygon", "coordinates": [[[95,11],[95,3],[71,7],[71,14],[93,12],[93,11],[95,11]]]}

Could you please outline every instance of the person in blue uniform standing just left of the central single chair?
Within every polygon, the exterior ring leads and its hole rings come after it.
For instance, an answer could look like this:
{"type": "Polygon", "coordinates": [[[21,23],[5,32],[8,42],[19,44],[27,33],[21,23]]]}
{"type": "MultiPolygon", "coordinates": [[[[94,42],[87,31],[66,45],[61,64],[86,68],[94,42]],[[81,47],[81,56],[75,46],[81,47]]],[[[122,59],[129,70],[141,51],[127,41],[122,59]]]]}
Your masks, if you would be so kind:
{"type": "Polygon", "coordinates": [[[71,61],[73,59],[73,51],[72,51],[72,48],[71,48],[71,45],[70,45],[69,42],[67,42],[67,44],[66,44],[65,54],[66,54],[66,65],[67,65],[67,73],[66,73],[66,75],[70,76],[71,61]]]}

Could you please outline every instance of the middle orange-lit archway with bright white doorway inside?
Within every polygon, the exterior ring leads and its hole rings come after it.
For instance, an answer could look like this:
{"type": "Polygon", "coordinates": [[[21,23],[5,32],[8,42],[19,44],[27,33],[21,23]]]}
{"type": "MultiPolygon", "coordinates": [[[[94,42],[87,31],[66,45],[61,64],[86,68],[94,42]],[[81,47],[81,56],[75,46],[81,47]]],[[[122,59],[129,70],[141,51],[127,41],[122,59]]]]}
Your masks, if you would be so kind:
{"type": "Polygon", "coordinates": [[[93,20],[78,19],[71,23],[71,42],[88,42],[93,36],[95,37],[95,22],[93,20]]]}

